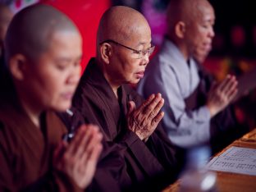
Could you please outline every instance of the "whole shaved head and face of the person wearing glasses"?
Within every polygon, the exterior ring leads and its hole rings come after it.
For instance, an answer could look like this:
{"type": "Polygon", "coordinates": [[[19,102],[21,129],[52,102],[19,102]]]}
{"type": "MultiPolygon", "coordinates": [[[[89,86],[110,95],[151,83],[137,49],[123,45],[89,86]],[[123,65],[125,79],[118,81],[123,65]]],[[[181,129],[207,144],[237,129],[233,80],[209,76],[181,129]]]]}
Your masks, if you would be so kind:
{"type": "Polygon", "coordinates": [[[98,25],[96,63],[116,95],[119,86],[139,82],[152,53],[151,40],[149,23],[139,11],[117,6],[104,12],[98,25]]]}

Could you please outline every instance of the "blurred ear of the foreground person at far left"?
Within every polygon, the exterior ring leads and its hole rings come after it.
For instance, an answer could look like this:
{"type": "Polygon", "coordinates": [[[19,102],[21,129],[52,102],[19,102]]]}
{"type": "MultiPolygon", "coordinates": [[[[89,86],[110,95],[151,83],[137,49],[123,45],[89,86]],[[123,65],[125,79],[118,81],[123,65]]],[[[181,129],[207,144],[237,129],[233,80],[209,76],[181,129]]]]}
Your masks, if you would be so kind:
{"type": "Polygon", "coordinates": [[[11,75],[13,75],[16,80],[23,80],[25,76],[26,65],[26,58],[22,54],[14,55],[9,61],[9,69],[11,71],[11,75]]]}

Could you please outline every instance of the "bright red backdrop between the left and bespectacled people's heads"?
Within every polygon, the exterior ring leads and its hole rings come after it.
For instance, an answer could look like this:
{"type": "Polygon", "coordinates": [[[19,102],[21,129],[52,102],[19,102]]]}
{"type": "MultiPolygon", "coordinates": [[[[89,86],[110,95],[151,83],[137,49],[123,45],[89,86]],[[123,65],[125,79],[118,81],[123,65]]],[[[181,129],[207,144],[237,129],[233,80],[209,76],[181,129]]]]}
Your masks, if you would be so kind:
{"type": "Polygon", "coordinates": [[[110,7],[110,0],[43,0],[42,2],[63,11],[78,26],[83,38],[84,55],[81,66],[84,71],[89,58],[95,56],[98,22],[103,12],[110,7]]]}

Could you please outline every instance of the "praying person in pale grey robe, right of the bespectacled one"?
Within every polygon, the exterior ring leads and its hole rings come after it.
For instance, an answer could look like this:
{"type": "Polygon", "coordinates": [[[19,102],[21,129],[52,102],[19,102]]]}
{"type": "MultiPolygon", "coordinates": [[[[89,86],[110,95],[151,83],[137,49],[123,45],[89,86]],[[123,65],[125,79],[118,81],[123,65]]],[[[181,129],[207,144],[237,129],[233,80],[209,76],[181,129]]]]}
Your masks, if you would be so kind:
{"type": "Polygon", "coordinates": [[[171,141],[185,149],[214,140],[216,152],[231,142],[229,133],[236,131],[234,114],[226,112],[237,92],[235,76],[213,84],[204,79],[202,67],[194,61],[196,57],[202,62],[212,48],[214,21],[207,0],[171,1],[166,39],[138,86],[144,97],[162,93],[162,124],[171,141]],[[217,135],[226,137],[215,139],[217,135]]]}

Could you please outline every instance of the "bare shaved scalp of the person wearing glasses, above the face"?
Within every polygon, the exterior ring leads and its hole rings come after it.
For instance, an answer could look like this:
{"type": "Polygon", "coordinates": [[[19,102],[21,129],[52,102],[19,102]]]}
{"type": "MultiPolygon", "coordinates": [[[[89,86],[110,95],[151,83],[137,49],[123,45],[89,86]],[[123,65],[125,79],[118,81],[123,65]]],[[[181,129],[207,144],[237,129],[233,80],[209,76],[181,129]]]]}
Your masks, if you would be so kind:
{"type": "Polygon", "coordinates": [[[132,41],[141,28],[150,30],[148,22],[139,11],[124,6],[111,7],[99,23],[97,45],[107,39],[120,43],[132,41]]]}

